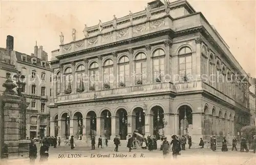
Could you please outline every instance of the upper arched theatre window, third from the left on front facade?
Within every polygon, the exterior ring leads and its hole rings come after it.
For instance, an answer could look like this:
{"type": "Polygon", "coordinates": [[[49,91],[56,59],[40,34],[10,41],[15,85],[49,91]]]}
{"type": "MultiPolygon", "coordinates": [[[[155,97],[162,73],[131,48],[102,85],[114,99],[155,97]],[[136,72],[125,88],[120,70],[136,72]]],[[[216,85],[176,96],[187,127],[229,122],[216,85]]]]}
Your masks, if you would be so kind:
{"type": "Polygon", "coordinates": [[[77,92],[83,92],[84,91],[84,80],[83,80],[83,75],[84,75],[84,70],[86,68],[80,64],[76,68],[76,91],[77,92]]]}

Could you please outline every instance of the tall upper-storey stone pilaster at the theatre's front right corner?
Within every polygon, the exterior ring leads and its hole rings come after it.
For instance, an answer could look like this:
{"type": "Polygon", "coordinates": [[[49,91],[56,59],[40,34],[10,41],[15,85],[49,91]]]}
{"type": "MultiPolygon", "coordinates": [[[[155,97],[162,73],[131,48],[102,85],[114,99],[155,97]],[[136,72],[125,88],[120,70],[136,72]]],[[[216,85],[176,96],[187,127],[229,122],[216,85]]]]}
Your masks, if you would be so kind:
{"type": "MultiPolygon", "coordinates": [[[[198,81],[201,80],[201,43],[202,43],[202,38],[201,36],[195,39],[196,42],[196,56],[193,57],[192,55],[192,73],[193,77],[197,78],[198,81]]],[[[194,123],[193,123],[194,125],[194,123]]]]}

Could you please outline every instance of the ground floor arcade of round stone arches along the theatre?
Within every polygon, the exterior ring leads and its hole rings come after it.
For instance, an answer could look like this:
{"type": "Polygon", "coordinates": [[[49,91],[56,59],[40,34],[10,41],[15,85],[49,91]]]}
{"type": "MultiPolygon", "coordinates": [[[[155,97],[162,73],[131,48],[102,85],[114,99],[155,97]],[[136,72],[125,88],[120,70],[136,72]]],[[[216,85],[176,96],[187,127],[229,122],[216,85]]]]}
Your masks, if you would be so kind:
{"type": "Polygon", "coordinates": [[[237,135],[235,112],[204,101],[201,95],[141,97],[93,103],[59,105],[51,108],[51,135],[62,139],[90,140],[101,135],[126,139],[137,130],[142,135],[237,135]]]}

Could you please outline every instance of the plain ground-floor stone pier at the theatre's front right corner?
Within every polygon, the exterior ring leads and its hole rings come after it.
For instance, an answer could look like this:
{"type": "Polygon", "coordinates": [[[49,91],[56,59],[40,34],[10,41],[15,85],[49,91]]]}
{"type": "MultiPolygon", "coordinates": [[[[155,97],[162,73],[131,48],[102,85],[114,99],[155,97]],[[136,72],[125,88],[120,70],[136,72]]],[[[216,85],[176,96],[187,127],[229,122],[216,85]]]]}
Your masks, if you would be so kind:
{"type": "Polygon", "coordinates": [[[201,112],[194,112],[193,114],[193,138],[200,139],[202,137],[202,118],[201,112]]]}

